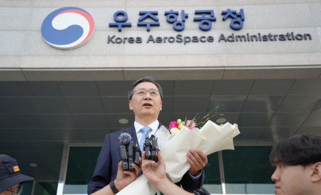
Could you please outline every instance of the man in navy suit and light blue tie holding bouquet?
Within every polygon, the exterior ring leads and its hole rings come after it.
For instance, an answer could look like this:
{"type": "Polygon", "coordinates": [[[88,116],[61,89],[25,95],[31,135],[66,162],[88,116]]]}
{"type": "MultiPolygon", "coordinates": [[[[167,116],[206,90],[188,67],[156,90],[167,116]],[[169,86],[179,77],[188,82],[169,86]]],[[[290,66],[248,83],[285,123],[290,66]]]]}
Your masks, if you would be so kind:
{"type": "MultiPolygon", "coordinates": [[[[154,134],[162,126],[157,120],[159,111],[162,110],[162,99],[163,89],[152,77],[145,76],[133,82],[128,92],[128,100],[129,109],[133,110],[135,114],[135,122],[125,130],[106,135],[93,177],[88,184],[88,194],[105,194],[103,191],[110,191],[110,188],[114,193],[117,193],[129,184],[120,182],[121,179],[117,175],[117,167],[120,161],[118,136],[122,132],[133,134],[132,140],[134,143],[138,138],[138,143],[142,146],[143,135],[146,133],[154,134]]],[[[193,192],[203,185],[205,177],[203,167],[207,163],[207,156],[202,151],[191,148],[187,153],[187,160],[191,168],[176,184],[182,185],[185,190],[193,192]]],[[[141,171],[139,175],[141,175],[141,171]]]]}

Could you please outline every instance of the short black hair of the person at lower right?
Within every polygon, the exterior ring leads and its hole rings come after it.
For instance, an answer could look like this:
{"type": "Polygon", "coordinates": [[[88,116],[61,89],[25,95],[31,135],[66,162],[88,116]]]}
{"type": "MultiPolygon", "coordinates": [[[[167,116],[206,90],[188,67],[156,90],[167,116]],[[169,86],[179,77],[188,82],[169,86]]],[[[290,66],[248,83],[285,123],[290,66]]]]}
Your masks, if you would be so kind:
{"type": "Polygon", "coordinates": [[[300,134],[275,143],[270,163],[307,166],[321,162],[321,136],[300,134]]]}

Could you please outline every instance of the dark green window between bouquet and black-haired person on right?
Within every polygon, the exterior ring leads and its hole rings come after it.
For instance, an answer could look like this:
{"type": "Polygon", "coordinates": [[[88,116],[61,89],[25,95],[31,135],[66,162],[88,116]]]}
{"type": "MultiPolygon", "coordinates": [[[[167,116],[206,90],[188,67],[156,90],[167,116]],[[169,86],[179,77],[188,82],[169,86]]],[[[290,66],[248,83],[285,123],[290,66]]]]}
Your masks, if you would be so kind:
{"type": "Polygon", "coordinates": [[[226,193],[274,194],[271,149],[272,146],[235,146],[235,150],[223,150],[226,193]]]}

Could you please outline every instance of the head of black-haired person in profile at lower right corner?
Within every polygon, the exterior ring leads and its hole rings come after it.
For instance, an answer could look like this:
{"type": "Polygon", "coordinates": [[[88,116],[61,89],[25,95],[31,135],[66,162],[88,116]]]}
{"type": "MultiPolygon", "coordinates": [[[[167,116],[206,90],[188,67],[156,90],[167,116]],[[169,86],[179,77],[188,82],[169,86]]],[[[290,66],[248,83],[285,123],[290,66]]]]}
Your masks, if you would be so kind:
{"type": "Polygon", "coordinates": [[[321,194],[321,136],[295,135],[273,146],[275,194],[321,194]]]}

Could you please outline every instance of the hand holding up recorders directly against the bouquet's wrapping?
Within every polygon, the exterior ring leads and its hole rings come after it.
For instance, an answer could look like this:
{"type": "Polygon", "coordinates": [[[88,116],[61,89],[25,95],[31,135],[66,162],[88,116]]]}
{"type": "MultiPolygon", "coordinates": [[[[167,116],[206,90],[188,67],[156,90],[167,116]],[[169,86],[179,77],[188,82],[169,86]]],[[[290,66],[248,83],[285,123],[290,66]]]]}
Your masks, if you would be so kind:
{"type": "Polygon", "coordinates": [[[166,177],[165,162],[162,158],[161,152],[157,152],[158,164],[154,160],[147,160],[145,157],[145,151],[142,153],[142,173],[147,180],[154,184],[156,187],[159,183],[163,182],[166,177]]]}

